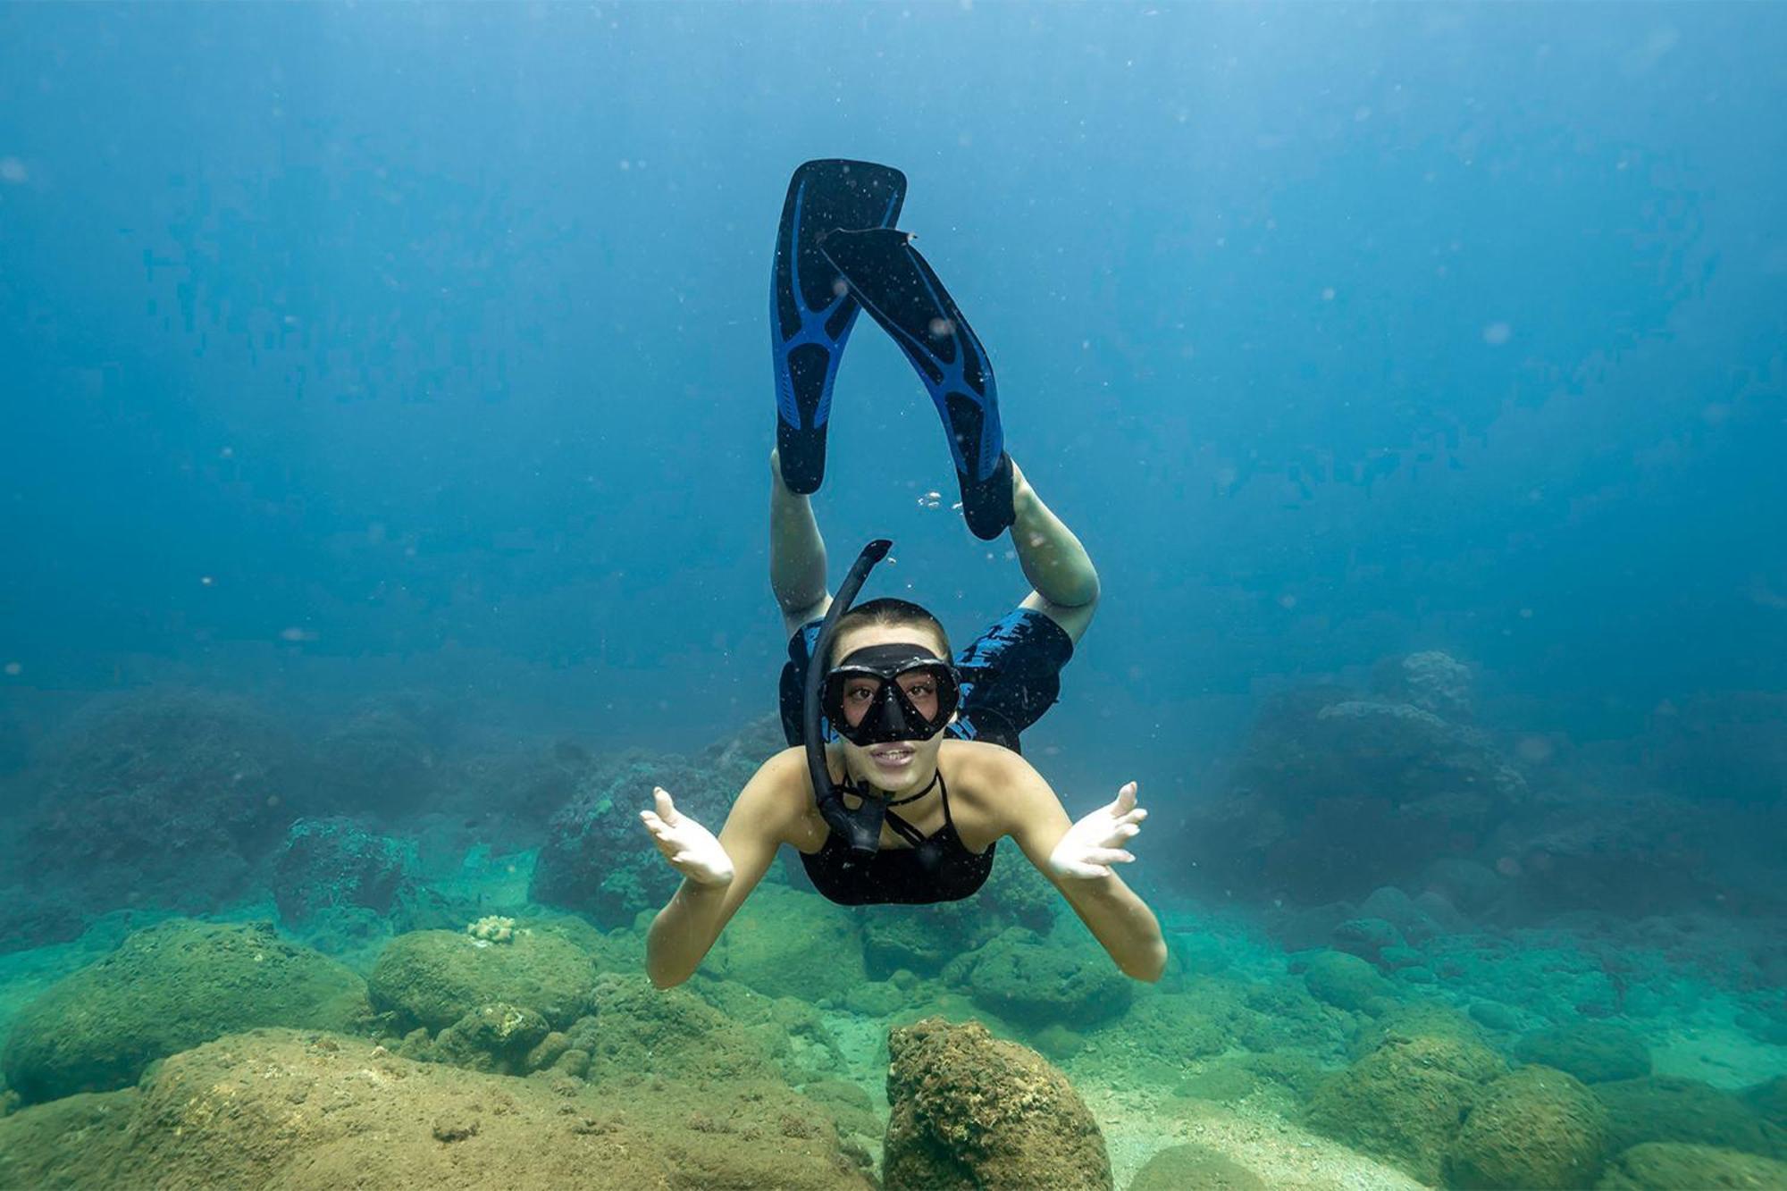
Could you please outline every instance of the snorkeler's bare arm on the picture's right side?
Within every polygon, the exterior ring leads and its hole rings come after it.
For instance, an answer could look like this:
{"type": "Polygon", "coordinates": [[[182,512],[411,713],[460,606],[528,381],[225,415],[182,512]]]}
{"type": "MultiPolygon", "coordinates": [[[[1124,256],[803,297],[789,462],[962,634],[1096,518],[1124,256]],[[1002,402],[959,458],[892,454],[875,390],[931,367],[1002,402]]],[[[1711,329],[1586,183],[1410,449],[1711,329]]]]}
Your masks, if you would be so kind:
{"type": "MultiPolygon", "coordinates": [[[[1074,908],[1079,921],[1099,941],[1126,976],[1153,984],[1167,969],[1167,942],[1162,939],[1160,923],[1135,891],[1122,883],[1122,878],[1110,869],[1112,864],[1133,860],[1120,848],[1094,853],[1103,857],[1103,869],[1097,876],[1070,876],[1060,873],[1060,864],[1051,864],[1056,848],[1076,824],[1067,817],[1061,799],[1036,773],[1029,762],[1017,753],[1006,753],[997,760],[988,758],[997,773],[990,780],[1001,783],[1001,803],[1010,807],[1010,835],[1024,849],[1029,862],[1042,871],[1049,882],[1061,891],[1067,905],[1074,908]]],[[[1129,787],[1124,787],[1129,790],[1129,787]]],[[[1133,805],[1133,790],[1128,792],[1133,805]]],[[[1104,815],[1122,805],[1122,796],[1110,807],[1101,807],[1094,815],[1104,815]]],[[[1144,812],[1145,814],[1145,812],[1144,812]]],[[[1126,815],[1117,814],[1113,821],[1126,815]]],[[[1092,819],[1088,815],[1086,819],[1092,819]]],[[[1081,819],[1081,823],[1086,823],[1081,819]]],[[[1122,832],[1119,832],[1122,833],[1122,832]]],[[[1122,833],[1122,839],[1135,835],[1135,830],[1122,833]]]]}

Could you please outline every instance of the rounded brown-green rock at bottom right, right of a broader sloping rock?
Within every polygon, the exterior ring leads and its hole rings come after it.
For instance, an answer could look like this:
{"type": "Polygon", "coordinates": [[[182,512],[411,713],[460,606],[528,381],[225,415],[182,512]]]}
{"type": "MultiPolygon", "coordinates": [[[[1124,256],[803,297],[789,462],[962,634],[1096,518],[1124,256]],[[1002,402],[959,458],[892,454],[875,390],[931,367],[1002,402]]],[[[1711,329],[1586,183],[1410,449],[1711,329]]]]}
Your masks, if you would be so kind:
{"type": "Polygon", "coordinates": [[[1607,1111],[1573,1075],[1521,1068],[1483,1089],[1446,1159],[1451,1186],[1587,1187],[1607,1152],[1607,1111]]]}

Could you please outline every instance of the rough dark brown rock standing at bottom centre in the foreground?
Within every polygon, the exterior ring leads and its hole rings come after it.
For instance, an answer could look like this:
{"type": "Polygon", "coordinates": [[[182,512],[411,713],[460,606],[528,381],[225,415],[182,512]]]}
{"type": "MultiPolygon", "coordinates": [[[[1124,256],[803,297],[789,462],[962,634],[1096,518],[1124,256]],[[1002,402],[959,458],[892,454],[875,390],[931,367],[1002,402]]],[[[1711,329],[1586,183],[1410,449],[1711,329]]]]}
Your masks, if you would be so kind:
{"type": "Polygon", "coordinates": [[[886,1191],[1112,1187],[1104,1136],[1067,1078],[979,1023],[888,1035],[886,1191]]]}

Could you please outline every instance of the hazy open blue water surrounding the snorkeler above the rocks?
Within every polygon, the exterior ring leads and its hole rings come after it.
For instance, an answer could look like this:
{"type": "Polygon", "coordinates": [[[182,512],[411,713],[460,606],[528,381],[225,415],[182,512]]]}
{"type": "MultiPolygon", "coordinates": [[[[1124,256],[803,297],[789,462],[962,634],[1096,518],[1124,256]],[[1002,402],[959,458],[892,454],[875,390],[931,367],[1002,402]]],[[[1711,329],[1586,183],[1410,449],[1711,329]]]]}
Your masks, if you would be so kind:
{"type": "MultiPolygon", "coordinates": [[[[1748,807],[1778,930],[1783,48],[1735,4],[4,7],[7,826],[120,690],[597,753],[774,710],[774,220],[851,156],[1097,562],[1026,735],[1070,812],[1137,778],[1181,848],[1262,699],[1439,649],[1571,758],[1535,787],[1748,807]]],[[[867,320],[831,442],[835,572],[894,538],[876,590],[960,640],[1024,596],[917,499],[867,320]]]]}

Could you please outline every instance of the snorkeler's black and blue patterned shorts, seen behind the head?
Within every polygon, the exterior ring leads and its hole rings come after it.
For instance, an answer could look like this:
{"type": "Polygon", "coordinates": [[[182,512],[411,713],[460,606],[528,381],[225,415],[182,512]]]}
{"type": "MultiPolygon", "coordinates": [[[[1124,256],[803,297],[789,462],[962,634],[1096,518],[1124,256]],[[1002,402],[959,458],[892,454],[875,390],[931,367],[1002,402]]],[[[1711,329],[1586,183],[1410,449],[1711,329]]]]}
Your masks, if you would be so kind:
{"type": "MultiPolygon", "coordinates": [[[[818,626],[818,621],[808,621],[788,638],[788,663],[781,678],[783,735],[788,744],[801,744],[802,739],[801,705],[818,626]]],[[[1061,667],[1072,656],[1072,638],[1045,613],[1019,608],[1003,617],[956,655],[961,710],[945,731],[956,740],[988,740],[1017,753],[1019,733],[1061,697],[1061,667]]]]}

